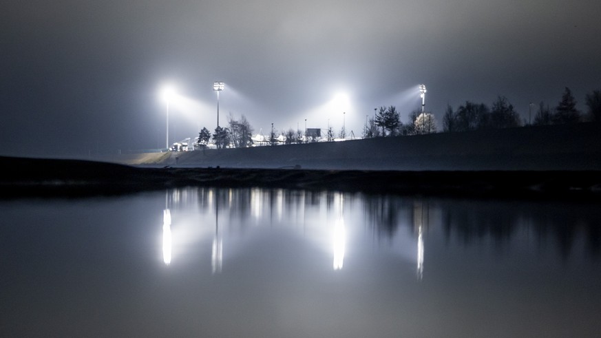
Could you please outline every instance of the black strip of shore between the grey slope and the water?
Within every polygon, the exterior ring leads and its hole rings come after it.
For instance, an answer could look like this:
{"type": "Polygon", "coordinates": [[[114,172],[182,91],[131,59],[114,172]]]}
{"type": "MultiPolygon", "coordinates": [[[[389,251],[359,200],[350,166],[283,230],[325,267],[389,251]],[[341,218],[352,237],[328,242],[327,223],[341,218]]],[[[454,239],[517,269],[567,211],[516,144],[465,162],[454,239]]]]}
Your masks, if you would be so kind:
{"type": "Polygon", "coordinates": [[[0,156],[0,198],[112,196],[184,187],[304,189],[461,198],[601,200],[601,171],[370,171],[135,167],[0,156]]]}

